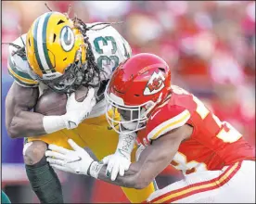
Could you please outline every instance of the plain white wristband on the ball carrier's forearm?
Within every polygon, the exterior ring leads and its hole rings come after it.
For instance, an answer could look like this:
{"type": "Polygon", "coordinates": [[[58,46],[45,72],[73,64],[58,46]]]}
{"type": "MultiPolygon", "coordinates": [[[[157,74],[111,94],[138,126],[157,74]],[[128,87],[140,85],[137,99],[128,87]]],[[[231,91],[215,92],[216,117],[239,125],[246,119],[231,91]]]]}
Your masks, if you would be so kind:
{"type": "Polygon", "coordinates": [[[62,116],[44,116],[43,126],[46,134],[52,134],[66,128],[66,124],[62,116]]]}

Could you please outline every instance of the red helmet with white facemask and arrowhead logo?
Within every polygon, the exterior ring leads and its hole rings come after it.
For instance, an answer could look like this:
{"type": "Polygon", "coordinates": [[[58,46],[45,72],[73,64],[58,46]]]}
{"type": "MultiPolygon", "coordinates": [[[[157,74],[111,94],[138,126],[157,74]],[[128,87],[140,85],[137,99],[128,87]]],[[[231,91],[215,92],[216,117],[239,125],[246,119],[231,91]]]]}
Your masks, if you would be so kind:
{"type": "Polygon", "coordinates": [[[142,53],[127,59],[113,72],[105,92],[109,125],[119,134],[124,133],[122,127],[125,133],[145,128],[150,113],[170,92],[171,70],[162,58],[142,53]],[[109,108],[118,109],[121,121],[109,108]]]}

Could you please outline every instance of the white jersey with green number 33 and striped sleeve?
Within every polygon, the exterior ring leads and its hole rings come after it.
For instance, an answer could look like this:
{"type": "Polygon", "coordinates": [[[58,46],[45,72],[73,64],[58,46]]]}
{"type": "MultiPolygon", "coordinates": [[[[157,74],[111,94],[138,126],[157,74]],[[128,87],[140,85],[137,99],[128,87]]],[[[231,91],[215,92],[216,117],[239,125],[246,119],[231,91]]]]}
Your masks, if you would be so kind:
{"type": "MultiPolygon", "coordinates": [[[[86,24],[88,27],[96,23],[86,24]]],[[[93,30],[86,32],[89,38],[89,42],[92,46],[92,51],[96,58],[96,64],[99,69],[103,70],[100,75],[101,80],[109,80],[113,70],[115,70],[122,61],[131,57],[132,49],[122,35],[117,32],[112,26],[103,28],[106,25],[98,25],[93,30]],[[103,29],[101,29],[103,28],[103,29]]],[[[20,36],[13,42],[15,45],[21,47],[26,44],[26,34],[20,36]]],[[[40,83],[36,80],[32,69],[29,66],[26,57],[19,57],[18,55],[12,55],[17,50],[16,47],[9,46],[8,57],[8,72],[14,78],[16,83],[24,87],[39,87],[40,95],[46,88],[44,83],[40,83]]],[[[97,78],[94,83],[97,83],[97,78]]],[[[96,92],[97,92],[96,88],[96,92]]],[[[105,100],[101,100],[93,108],[89,118],[102,115],[105,111],[105,100]]]]}

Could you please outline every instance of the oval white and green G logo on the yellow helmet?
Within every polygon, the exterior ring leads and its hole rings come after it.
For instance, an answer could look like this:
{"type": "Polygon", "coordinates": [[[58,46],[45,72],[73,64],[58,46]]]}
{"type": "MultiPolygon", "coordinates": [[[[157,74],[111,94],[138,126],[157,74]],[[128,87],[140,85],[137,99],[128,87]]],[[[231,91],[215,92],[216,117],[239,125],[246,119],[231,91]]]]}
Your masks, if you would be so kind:
{"type": "Polygon", "coordinates": [[[62,28],[60,32],[60,45],[64,51],[69,52],[74,46],[74,33],[69,26],[62,28]]]}

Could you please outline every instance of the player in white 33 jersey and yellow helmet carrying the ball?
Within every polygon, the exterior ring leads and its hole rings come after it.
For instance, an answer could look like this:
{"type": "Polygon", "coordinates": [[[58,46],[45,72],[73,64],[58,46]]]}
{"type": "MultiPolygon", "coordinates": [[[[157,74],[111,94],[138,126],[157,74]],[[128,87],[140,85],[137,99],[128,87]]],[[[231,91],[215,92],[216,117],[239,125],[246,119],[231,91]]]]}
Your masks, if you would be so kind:
{"type": "MultiPolygon", "coordinates": [[[[11,138],[25,138],[26,172],[41,202],[63,202],[58,176],[46,162],[45,150],[47,144],[70,148],[67,136],[80,147],[90,147],[97,159],[111,155],[111,162],[120,170],[112,176],[129,168],[134,140],[128,144],[130,134],[108,129],[103,93],[112,71],[131,52],[109,23],[85,24],[59,12],[38,17],[29,32],[10,44],[8,72],[14,83],[6,96],[6,129],[11,138]],[[83,102],[77,102],[74,92],[81,86],[89,91],[83,102]],[[70,95],[65,115],[32,111],[45,89],[70,95]],[[124,147],[121,154],[119,149],[124,147]]],[[[154,186],[123,191],[131,202],[141,202],[154,186]]]]}

